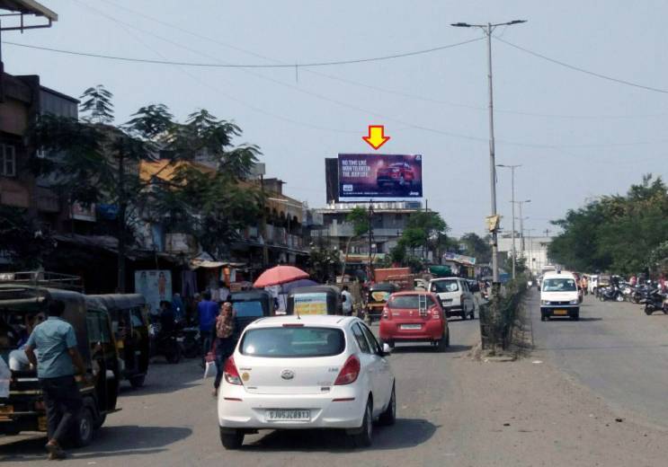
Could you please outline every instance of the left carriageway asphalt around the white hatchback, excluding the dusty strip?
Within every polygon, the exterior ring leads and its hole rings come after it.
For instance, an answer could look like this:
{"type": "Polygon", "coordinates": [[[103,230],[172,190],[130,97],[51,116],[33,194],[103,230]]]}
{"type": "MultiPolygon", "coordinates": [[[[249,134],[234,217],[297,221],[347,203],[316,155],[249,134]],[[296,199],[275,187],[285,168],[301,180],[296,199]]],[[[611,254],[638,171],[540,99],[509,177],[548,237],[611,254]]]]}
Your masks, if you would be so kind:
{"type": "MultiPolygon", "coordinates": [[[[124,384],[122,410],[107,419],[93,445],[73,451],[70,462],[129,467],[219,465],[225,459],[239,465],[315,465],[323,455],[334,453],[366,465],[441,463],[446,442],[454,442],[453,424],[458,427],[457,439],[473,435],[468,433],[468,415],[455,415],[447,408],[464,397],[457,379],[451,377],[456,373],[453,365],[477,343],[478,329],[477,320],[452,320],[446,354],[428,346],[397,346],[389,358],[396,374],[398,420],[394,427],[379,427],[370,449],[352,448],[339,432],[263,431],[247,436],[241,451],[226,452],[218,440],[211,380],[202,383],[200,366],[188,360],[177,366],[152,366],[147,385],[140,390],[124,384]]],[[[0,461],[39,464],[44,442],[43,436],[0,438],[0,461]]]]}

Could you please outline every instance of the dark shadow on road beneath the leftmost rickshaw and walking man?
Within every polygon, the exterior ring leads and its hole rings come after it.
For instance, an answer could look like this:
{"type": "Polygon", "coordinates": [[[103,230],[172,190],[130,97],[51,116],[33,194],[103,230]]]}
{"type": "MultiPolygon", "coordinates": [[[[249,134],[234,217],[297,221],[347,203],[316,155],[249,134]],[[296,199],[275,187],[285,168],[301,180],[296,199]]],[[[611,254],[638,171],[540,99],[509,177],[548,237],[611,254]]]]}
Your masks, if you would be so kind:
{"type": "MultiPolygon", "coordinates": [[[[93,443],[81,449],[67,450],[70,459],[96,459],[100,457],[136,454],[156,454],[166,451],[166,446],[191,436],[185,427],[102,427],[93,443]]],[[[0,445],[2,462],[34,462],[46,459],[46,436],[20,436],[15,443],[0,445]]]]}

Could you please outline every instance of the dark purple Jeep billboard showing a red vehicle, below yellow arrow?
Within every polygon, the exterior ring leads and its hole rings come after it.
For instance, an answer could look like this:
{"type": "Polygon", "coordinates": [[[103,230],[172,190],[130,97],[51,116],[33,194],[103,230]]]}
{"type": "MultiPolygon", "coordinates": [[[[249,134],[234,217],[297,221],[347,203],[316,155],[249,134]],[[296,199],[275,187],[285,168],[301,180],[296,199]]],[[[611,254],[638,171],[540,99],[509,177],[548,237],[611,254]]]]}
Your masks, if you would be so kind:
{"type": "Polygon", "coordinates": [[[339,154],[339,198],[422,198],[421,154],[339,154]]]}

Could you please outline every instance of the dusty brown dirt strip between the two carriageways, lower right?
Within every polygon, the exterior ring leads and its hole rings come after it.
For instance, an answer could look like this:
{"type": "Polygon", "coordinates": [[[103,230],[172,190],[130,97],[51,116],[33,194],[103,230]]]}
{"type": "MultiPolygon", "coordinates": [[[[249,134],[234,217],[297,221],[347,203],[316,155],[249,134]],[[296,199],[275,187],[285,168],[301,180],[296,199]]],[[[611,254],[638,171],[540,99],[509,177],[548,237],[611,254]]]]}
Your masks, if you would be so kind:
{"type": "Polygon", "coordinates": [[[473,435],[458,465],[666,465],[668,433],[620,419],[589,389],[534,361],[461,358],[454,366],[463,392],[457,419],[468,419],[473,435]]]}

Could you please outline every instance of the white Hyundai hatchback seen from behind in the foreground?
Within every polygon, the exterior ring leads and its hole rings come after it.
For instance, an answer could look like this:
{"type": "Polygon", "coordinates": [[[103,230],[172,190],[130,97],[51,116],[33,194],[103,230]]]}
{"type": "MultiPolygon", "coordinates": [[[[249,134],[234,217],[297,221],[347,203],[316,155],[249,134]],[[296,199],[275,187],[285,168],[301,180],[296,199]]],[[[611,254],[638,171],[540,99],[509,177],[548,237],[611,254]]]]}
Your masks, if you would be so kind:
{"type": "Polygon", "coordinates": [[[289,315],[249,324],[218,392],[222,445],[236,449],[258,429],[305,428],[343,428],[356,445],[370,445],[373,420],[396,419],[386,346],[355,317],[289,315]]]}

